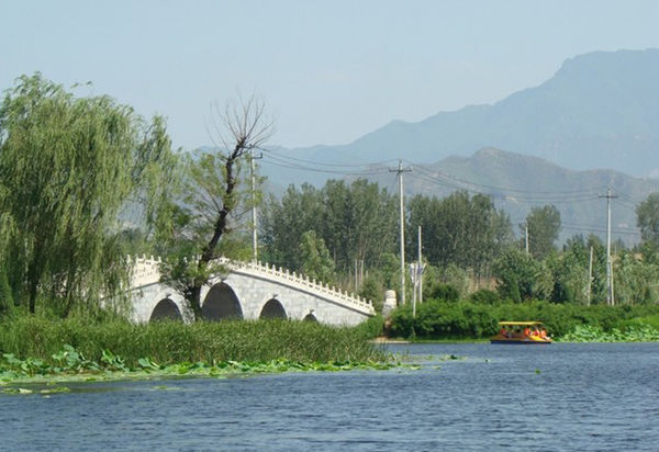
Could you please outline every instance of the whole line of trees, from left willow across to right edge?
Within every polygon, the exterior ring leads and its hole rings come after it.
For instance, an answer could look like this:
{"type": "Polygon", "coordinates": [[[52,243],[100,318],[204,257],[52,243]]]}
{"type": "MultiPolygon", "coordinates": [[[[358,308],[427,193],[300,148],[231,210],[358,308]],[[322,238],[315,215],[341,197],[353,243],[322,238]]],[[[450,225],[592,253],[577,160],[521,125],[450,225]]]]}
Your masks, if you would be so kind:
{"type": "MultiPolygon", "coordinates": [[[[215,105],[213,118],[213,149],[175,150],[160,116],[146,120],[107,95],[75,95],[40,74],[19,78],[0,103],[0,312],[121,313],[125,256],[142,251],[166,258],[164,281],[201,318],[201,287],[223,270],[215,258],[252,257],[254,203],[261,260],[377,303],[399,289],[396,194],[358,179],[264,197],[263,181],[253,187],[249,174],[272,129],[263,102],[215,105]]],[[[465,191],[416,194],[404,218],[407,261],[423,230],[426,297],[606,298],[605,246],[590,235],[557,247],[552,205],[532,208],[517,236],[491,197],[465,191]]],[[[659,194],[638,205],[637,219],[641,242],[615,251],[615,295],[654,304],[659,194]]]]}

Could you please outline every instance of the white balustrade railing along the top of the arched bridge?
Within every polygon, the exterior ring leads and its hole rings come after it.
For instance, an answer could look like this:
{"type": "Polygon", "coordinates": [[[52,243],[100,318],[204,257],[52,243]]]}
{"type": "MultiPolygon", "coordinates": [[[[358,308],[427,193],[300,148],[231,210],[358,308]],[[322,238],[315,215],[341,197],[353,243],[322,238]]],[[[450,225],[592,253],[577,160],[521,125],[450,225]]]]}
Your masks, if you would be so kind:
{"type": "MultiPolygon", "coordinates": [[[[261,262],[242,262],[232,261],[226,258],[217,259],[219,263],[226,267],[230,273],[245,274],[249,276],[265,279],[270,282],[287,285],[289,287],[309,292],[320,297],[326,298],[333,303],[344,305],[346,307],[360,310],[368,315],[375,315],[375,308],[370,301],[356,296],[347,291],[342,291],[334,286],[323,284],[315,279],[309,279],[306,275],[290,272],[288,269],[275,265],[268,265],[261,262]]],[[[131,258],[129,262],[133,263],[132,289],[142,287],[144,285],[155,284],[160,281],[160,258],[137,257],[131,258]]]]}

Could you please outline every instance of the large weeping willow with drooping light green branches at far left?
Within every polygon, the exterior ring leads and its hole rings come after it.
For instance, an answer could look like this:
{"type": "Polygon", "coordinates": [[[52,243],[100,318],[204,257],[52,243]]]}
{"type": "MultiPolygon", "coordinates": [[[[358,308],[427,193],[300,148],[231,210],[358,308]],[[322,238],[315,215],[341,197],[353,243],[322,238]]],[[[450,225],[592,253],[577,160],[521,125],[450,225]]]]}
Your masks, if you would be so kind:
{"type": "Polygon", "coordinates": [[[96,309],[126,276],[118,214],[165,205],[174,156],[165,122],[102,97],[75,97],[40,74],[0,104],[0,249],[14,300],[96,309]]]}

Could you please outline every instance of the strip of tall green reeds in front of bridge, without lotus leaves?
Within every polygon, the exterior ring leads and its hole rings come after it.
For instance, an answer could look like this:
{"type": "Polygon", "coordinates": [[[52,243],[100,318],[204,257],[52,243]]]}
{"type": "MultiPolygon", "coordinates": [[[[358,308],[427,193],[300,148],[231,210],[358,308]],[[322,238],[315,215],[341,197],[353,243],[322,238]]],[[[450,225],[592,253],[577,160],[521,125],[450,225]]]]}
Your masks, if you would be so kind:
{"type": "Polygon", "coordinates": [[[382,360],[381,350],[368,341],[372,330],[372,321],[356,328],[335,328],[289,320],[135,325],[121,320],[92,324],[82,319],[20,316],[0,323],[0,353],[52,363],[52,355],[69,344],[97,362],[102,351],[109,350],[127,365],[135,365],[141,358],[160,364],[382,360]]]}

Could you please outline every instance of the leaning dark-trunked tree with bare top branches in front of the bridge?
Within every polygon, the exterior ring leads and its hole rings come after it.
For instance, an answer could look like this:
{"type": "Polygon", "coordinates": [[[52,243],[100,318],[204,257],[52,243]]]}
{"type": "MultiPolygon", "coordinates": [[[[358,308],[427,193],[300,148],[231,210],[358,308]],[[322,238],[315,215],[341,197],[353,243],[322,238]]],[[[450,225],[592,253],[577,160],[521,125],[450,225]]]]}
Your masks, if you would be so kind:
{"type": "Polygon", "coordinates": [[[196,320],[202,318],[201,289],[225,271],[216,259],[232,257],[236,250],[230,233],[258,200],[250,195],[247,168],[253,152],[272,131],[265,105],[255,98],[230,103],[224,110],[215,104],[212,117],[215,146],[187,156],[182,196],[170,235],[171,253],[160,269],[163,281],[183,295],[196,320]]]}

